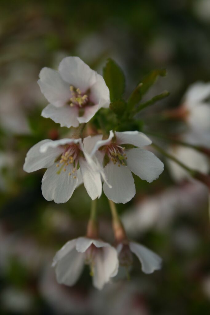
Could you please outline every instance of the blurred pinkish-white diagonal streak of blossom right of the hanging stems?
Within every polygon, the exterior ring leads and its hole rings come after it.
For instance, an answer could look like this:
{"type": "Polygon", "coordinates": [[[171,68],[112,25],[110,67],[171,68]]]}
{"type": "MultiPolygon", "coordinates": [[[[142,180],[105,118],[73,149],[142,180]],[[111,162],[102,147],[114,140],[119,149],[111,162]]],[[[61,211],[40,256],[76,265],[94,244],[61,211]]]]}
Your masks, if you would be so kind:
{"type": "Polygon", "coordinates": [[[188,182],[148,196],[122,215],[122,222],[130,237],[151,228],[166,229],[181,214],[195,215],[207,203],[208,189],[200,182],[188,182]],[[179,196],[179,198],[178,198],[179,196]]]}

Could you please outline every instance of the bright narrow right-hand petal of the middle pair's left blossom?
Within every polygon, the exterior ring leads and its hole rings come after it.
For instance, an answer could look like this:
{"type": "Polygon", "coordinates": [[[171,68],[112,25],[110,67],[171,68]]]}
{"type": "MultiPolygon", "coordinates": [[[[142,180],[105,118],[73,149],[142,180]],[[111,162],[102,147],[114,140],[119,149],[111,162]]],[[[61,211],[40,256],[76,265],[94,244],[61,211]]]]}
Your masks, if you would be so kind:
{"type": "Polygon", "coordinates": [[[82,180],[88,195],[92,200],[99,198],[102,193],[100,173],[95,171],[83,157],[79,158],[79,165],[82,180]]]}

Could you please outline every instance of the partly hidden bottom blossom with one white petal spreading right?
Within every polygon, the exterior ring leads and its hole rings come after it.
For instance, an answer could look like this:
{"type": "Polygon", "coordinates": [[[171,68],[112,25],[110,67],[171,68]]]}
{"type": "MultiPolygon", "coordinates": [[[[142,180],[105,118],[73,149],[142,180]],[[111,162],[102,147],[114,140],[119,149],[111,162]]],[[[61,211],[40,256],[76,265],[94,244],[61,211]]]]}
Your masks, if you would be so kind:
{"type": "Polygon", "coordinates": [[[132,265],[133,253],[141,262],[141,269],[144,273],[152,273],[155,270],[161,269],[161,257],[139,243],[126,240],[119,243],[116,249],[121,266],[128,268],[132,265]]]}

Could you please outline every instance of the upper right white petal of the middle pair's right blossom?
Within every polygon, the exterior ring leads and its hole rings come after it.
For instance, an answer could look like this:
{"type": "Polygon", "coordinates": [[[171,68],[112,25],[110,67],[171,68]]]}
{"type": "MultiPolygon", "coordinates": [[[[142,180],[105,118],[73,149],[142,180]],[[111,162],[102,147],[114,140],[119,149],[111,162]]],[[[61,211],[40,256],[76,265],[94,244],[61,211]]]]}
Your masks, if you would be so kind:
{"type": "Polygon", "coordinates": [[[148,146],[152,141],[140,131],[115,132],[117,144],[133,144],[133,146],[148,146]]]}

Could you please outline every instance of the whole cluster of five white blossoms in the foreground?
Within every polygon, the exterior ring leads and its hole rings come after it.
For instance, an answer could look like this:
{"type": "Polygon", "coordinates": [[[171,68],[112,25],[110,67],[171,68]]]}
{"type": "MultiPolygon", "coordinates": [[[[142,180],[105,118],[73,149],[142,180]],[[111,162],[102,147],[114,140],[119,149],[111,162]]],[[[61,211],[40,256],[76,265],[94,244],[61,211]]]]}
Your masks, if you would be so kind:
{"type": "MultiPolygon", "coordinates": [[[[74,190],[84,184],[92,200],[100,198],[102,189],[111,202],[127,203],[135,195],[133,174],[152,182],[163,171],[163,163],[145,149],[152,141],[140,131],[97,131],[83,137],[82,131],[101,108],[110,106],[110,91],[104,78],[78,57],[66,57],[58,71],[43,68],[38,84],[49,105],[42,116],[63,127],[77,127],[71,138],[42,140],[27,153],[26,172],[47,168],[42,179],[46,200],[67,202],[74,190]]],[[[79,202],[79,201],[78,201],[79,202]]],[[[160,269],[161,258],[143,245],[129,241],[120,219],[113,217],[115,247],[102,241],[96,232],[95,218],[90,219],[87,235],[67,242],[55,255],[59,283],[73,285],[84,264],[90,266],[93,284],[101,289],[116,276],[119,263],[127,268],[134,253],[142,271],[160,269]]]]}

